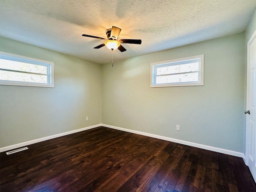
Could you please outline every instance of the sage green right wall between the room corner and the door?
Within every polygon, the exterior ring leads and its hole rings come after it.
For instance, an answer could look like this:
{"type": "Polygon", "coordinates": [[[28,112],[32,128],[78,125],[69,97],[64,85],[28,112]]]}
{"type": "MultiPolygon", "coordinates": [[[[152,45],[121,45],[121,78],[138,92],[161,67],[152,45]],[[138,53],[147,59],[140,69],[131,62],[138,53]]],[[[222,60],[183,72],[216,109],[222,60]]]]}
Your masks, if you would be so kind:
{"type": "Polygon", "coordinates": [[[102,76],[103,124],[243,152],[244,33],[105,64],[102,76]],[[204,86],[150,88],[150,63],[200,54],[204,86]]]}

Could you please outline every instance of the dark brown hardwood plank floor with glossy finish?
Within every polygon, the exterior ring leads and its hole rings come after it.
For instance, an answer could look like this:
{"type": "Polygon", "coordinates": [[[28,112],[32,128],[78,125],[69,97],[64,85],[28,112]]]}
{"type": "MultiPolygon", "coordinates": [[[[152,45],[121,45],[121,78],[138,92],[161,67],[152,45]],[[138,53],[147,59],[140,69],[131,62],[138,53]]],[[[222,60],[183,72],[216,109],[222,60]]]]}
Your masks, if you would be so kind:
{"type": "Polygon", "coordinates": [[[94,128],[0,153],[1,192],[256,192],[242,158],[94,128]]]}

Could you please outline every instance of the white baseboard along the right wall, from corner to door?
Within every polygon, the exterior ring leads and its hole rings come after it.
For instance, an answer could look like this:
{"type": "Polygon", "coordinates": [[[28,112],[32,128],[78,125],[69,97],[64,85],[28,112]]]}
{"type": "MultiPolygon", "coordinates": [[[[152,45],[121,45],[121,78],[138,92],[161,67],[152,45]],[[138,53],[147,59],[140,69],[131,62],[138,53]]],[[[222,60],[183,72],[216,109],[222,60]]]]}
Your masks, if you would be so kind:
{"type": "Polygon", "coordinates": [[[126,132],[130,132],[130,133],[135,133],[135,134],[139,134],[139,135],[149,136],[149,137],[152,137],[152,138],[171,141],[171,142],[175,142],[175,143],[179,143],[179,144],[184,144],[184,145],[188,145],[188,146],[192,146],[192,147],[196,147],[196,148],[206,149],[206,150],[219,152],[219,153],[223,153],[223,154],[228,154],[228,155],[232,155],[232,156],[237,156],[237,157],[243,158],[243,160],[245,162],[245,156],[241,152],[236,152],[236,151],[231,151],[231,150],[227,150],[227,149],[207,146],[207,145],[203,145],[203,144],[197,144],[197,143],[193,143],[193,142],[189,142],[189,141],[174,139],[174,138],[170,138],[170,137],[164,137],[164,136],[154,135],[154,134],[150,134],[150,133],[145,133],[145,132],[125,129],[125,128],[120,128],[120,127],[116,127],[116,126],[112,126],[112,125],[101,124],[101,126],[112,128],[112,129],[117,129],[117,130],[121,130],[121,131],[126,131],[126,132]]]}

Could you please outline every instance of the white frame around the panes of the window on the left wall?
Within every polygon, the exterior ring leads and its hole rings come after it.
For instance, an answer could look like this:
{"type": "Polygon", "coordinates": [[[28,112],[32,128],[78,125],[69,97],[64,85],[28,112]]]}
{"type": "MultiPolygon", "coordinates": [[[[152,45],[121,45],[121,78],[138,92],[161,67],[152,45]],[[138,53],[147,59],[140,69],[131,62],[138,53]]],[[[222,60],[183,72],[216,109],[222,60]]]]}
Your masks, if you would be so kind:
{"type": "MultiPolygon", "coordinates": [[[[0,59],[6,59],[10,61],[18,61],[28,64],[35,64],[38,66],[47,67],[47,83],[36,83],[36,82],[22,82],[22,81],[10,81],[10,80],[0,80],[0,85],[14,85],[14,86],[36,86],[36,87],[54,87],[54,62],[10,54],[6,52],[0,52],[0,59]]],[[[1,70],[1,68],[0,68],[1,70]]],[[[13,71],[13,70],[8,70],[13,71]]],[[[22,72],[22,71],[15,71],[22,72]]],[[[28,74],[32,74],[26,72],[28,74]]]]}

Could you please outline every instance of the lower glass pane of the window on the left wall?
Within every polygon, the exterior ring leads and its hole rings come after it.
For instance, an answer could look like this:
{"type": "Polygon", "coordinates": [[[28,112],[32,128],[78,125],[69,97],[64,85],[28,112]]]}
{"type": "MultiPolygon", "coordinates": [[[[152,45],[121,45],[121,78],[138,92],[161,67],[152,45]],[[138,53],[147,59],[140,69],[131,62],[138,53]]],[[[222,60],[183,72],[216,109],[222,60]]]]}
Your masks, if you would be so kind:
{"type": "Polygon", "coordinates": [[[47,76],[0,70],[0,80],[47,83],[47,76]]]}

